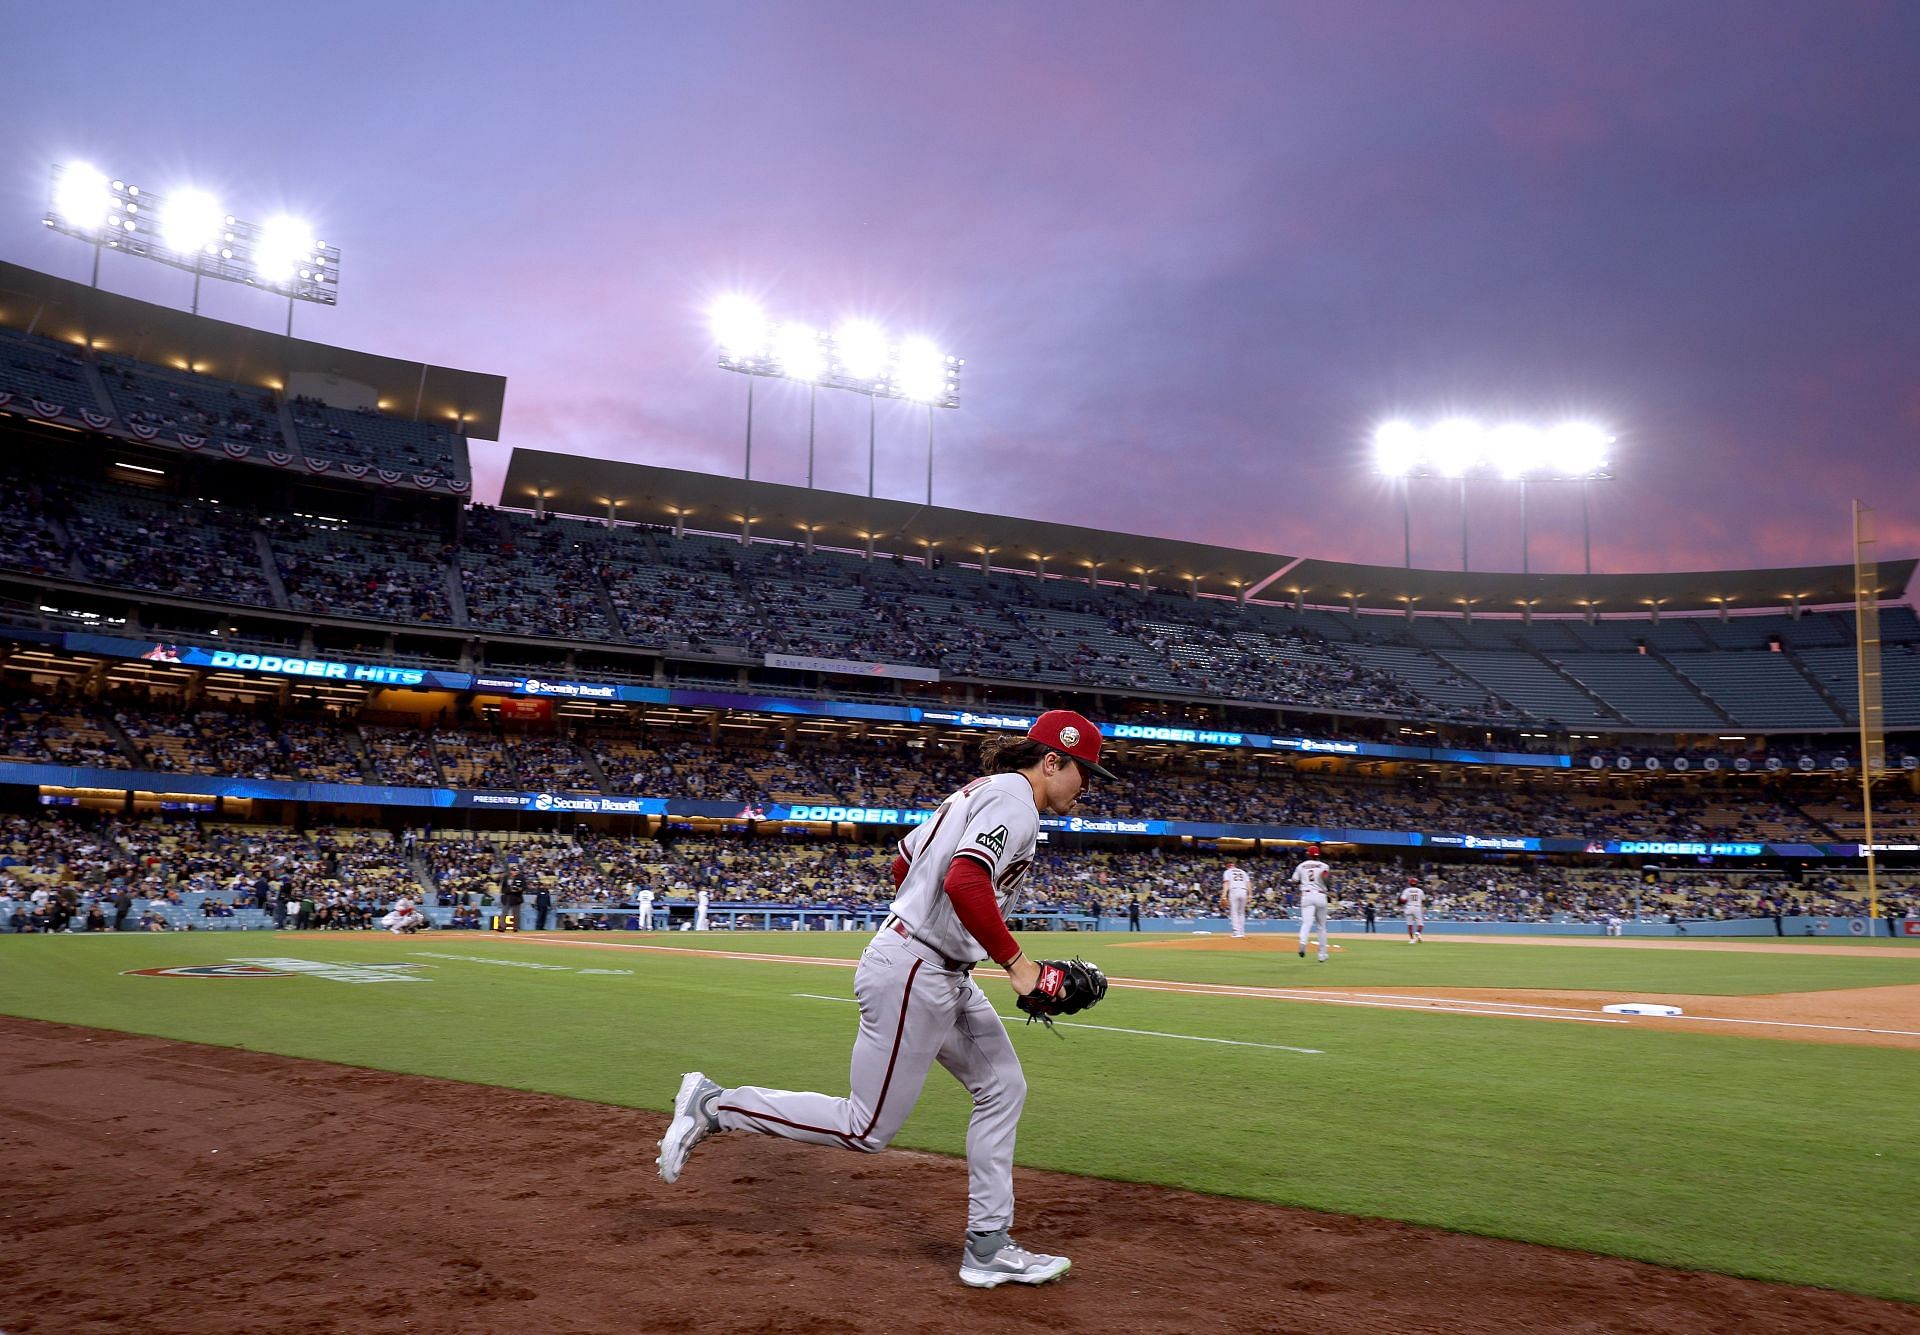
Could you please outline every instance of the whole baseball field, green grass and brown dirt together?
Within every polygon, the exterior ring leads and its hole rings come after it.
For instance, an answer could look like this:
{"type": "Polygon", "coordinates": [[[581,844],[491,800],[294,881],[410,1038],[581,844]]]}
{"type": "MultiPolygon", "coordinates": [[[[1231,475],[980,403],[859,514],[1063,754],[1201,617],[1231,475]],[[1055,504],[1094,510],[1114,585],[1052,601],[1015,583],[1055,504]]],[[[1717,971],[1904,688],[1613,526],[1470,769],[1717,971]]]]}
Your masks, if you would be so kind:
{"type": "Polygon", "coordinates": [[[1910,945],[1029,935],[1116,980],[1012,1022],[1075,1268],[977,1295],[941,1072],[653,1176],[684,1070],[845,1091],[862,943],[4,939],[0,1329],[1920,1329],[1910,945]]]}

